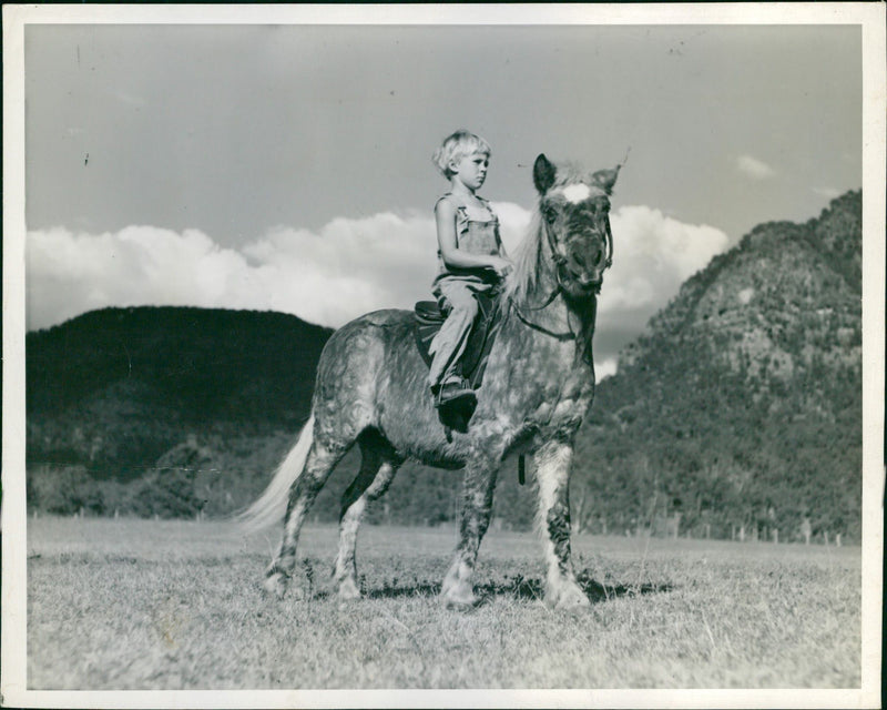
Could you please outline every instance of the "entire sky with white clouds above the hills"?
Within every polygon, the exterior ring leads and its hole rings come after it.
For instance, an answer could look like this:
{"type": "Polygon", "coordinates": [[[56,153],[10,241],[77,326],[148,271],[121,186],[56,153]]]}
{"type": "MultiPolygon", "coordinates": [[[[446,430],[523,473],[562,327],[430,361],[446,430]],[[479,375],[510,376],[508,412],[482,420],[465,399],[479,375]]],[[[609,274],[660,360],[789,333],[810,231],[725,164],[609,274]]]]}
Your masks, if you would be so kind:
{"type": "Polygon", "coordinates": [[[338,327],[430,297],[430,156],[492,146],[513,252],[539,153],[597,170],[614,263],[595,362],[755,225],[861,186],[855,26],[31,24],[27,327],[105,306],[338,327]]]}

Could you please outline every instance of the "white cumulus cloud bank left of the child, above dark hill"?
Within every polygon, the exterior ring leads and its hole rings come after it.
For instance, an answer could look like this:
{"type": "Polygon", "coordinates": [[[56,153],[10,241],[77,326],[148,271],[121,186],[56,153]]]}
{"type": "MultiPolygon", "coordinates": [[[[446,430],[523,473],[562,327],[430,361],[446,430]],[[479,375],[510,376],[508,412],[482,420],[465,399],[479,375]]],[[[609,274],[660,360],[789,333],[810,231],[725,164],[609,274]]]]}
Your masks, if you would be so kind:
{"type": "Polygon", "coordinates": [[[428,297],[434,222],[390,213],[336,219],[318,233],[278,227],[238,250],[196,230],[28,234],[28,326],[110,305],[274,310],[337,327],[428,297]]]}

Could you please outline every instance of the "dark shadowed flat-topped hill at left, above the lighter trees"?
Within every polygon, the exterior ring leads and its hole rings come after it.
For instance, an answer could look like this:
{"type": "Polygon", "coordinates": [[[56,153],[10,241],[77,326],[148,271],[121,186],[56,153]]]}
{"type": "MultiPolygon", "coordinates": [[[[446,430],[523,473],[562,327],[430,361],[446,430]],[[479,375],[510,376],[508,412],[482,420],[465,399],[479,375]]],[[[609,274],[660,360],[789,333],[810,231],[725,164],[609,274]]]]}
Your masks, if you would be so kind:
{"type": "Polygon", "coordinates": [[[188,440],[292,434],[329,334],[281,313],[180,307],[105,308],[28,333],[29,470],[125,483],[188,440]]]}

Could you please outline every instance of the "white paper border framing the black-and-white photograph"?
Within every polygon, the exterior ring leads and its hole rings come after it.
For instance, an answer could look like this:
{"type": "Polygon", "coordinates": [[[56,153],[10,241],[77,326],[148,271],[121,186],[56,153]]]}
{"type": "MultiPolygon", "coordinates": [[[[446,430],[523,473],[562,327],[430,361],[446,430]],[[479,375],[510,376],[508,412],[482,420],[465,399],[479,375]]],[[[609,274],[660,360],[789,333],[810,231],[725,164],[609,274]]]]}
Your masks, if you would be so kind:
{"type": "Polygon", "coordinates": [[[885,4],[3,6],[2,701],[34,708],[840,708],[880,702],[884,532],[885,4]],[[863,32],[863,676],[848,690],[30,691],[26,684],[24,28],[193,24],[855,24],[863,32]]]}

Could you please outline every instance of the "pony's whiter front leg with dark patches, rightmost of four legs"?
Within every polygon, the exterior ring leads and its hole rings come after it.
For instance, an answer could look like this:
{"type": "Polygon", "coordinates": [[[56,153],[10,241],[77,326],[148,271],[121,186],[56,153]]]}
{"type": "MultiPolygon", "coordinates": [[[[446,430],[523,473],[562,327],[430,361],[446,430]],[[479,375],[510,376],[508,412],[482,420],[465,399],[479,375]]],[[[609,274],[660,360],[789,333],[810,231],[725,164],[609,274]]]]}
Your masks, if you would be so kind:
{"type": "Polygon", "coordinates": [[[558,609],[589,606],[589,598],[575,580],[570,557],[569,477],[572,456],[572,446],[558,440],[548,442],[534,456],[539,526],[548,565],[546,604],[558,609]]]}

